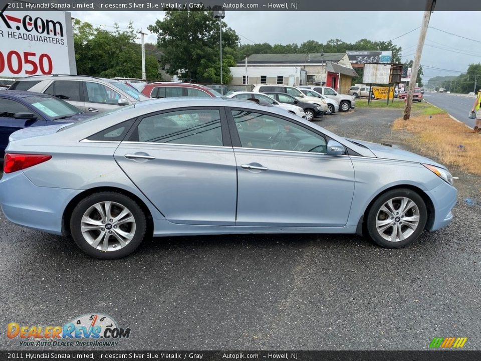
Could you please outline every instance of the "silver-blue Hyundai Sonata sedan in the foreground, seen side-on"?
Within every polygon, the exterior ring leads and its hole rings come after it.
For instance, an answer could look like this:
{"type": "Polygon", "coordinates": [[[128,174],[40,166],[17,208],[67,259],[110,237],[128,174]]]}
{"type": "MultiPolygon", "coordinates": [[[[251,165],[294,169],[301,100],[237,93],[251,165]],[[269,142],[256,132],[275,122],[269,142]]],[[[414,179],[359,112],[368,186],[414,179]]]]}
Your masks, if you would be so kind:
{"type": "Polygon", "coordinates": [[[404,247],[449,224],[457,193],[428,158],[223,98],[19,130],[6,153],[7,218],[109,259],[147,236],[364,233],[404,247]]]}

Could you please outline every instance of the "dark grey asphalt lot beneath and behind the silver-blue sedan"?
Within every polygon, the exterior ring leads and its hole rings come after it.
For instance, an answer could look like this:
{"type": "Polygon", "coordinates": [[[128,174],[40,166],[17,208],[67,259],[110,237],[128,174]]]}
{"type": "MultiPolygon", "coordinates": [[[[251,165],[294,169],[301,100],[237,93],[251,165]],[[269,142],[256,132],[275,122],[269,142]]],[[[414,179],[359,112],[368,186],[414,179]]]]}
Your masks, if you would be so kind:
{"type": "MultiPolygon", "coordinates": [[[[319,123],[402,147],[390,131],[401,115],[358,109],[319,123]]],[[[448,336],[481,349],[481,202],[464,202],[473,178],[454,175],[462,197],[452,224],[399,250],[350,235],[170,237],[99,261],[1,215],[1,348],[62,349],[20,346],[6,337],[9,322],[104,313],[131,328],[106,349],[416,350],[448,336]]]]}

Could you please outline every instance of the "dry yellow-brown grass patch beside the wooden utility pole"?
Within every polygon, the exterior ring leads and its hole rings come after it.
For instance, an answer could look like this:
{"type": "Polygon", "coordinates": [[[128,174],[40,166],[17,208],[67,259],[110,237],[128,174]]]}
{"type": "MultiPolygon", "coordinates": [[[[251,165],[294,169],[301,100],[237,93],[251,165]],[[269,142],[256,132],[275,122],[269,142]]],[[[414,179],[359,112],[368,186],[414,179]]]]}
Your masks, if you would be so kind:
{"type": "Polygon", "coordinates": [[[481,174],[481,136],[446,114],[433,113],[424,109],[426,115],[413,116],[409,120],[398,118],[394,121],[394,130],[407,130],[415,134],[406,141],[417,149],[437,157],[441,163],[455,165],[461,169],[481,174]]]}

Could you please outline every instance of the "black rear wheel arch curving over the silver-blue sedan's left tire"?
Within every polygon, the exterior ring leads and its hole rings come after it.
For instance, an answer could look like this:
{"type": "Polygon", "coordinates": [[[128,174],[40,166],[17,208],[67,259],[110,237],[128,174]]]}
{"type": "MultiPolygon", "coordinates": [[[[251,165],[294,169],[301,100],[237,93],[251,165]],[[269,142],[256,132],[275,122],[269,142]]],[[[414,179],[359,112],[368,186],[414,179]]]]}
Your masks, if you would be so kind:
{"type": "Polygon", "coordinates": [[[70,219],[72,217],[72,212],[74,211],[77,204],[81,200],[83,200],[83,199],[85,199],[85,198],[87,198],[87,197],[89,197],[89,196],[91,196],[95,193],[101,193],[101,192],[116,192],[116,193],[119,193],[121,195],[127,196],[127,197],[131,198],[133,201],[135,201],[139,205],[139,207],[142,209],[142,211],[145,215],[145,219],[146,219],[146,222],[147,222],[147,230],[146,230],[145,234],[148,235],[148,236],[153,235],[154,224],[153,224],[152,214],[151,214],[149,208],[145,205],[145,203],[139,197],[137,197],[133,193],[131,193],[129,191],[126,191],[124,189],[121,189],[121,188],[97,187],[97,188],[91,188],[91,189],[85,190],[84,192],[78,194],[77,196],[75,196],[69,202],[67,207],[65,207],[64,214],[62,215],[62,234],[64,236],[70,236],[70,234],[71,234],[70,219]]]}

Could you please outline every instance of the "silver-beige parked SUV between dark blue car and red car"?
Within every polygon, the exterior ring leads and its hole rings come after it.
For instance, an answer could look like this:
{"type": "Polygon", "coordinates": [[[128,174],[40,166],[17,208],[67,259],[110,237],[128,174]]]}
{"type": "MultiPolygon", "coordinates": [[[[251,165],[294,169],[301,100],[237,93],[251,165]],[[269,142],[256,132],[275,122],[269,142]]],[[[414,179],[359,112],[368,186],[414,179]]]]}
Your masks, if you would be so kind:
{"type": "Polygon", "coordinates": [[[9,89],[50,94],[86,113],[102,113],[150,99],[126,83],[88,75],[33,75],[17,79],[9,89]]]}

